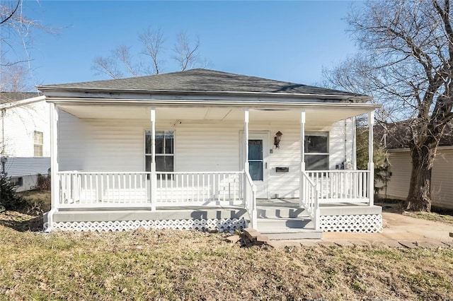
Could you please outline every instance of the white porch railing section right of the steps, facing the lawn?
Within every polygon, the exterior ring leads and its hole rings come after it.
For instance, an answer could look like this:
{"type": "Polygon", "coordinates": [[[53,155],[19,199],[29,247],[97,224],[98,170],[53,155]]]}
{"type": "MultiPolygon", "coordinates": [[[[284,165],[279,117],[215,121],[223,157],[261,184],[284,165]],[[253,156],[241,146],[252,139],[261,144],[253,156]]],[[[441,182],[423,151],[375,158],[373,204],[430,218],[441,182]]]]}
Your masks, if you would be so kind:
{"type": "Polygon", "coordinates": [[[368,203],[369,170],[306,171],[316,185],[319,203],[368,203]]]}

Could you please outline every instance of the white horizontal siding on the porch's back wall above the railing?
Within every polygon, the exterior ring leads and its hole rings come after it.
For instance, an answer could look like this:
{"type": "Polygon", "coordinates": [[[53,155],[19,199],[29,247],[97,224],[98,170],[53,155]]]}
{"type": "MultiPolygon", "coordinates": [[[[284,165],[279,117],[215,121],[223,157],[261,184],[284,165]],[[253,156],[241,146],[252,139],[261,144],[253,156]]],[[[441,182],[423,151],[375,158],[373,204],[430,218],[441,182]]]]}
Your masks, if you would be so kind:
{"type": "MultiPolygon", "coordinates": [[[[159,120],[159,117],[158,117],[159,120]]],[[[352,122],[338,122],[330,131],[330,165],[335,169],[345,158],[352,158],[352,122]],[[347,153],[344,143],[347,141],[347,153]]],[[[59,169],[85,171],[144,171],[144,131],[151,123],[144,119],[77,119],[71,114],[59,114],[59,169]]],[[[241,163],[241,131],[243,123],[231,122],[157,122],[156,130],[175,131],[175,171],[237,171],[241,163]]],[[[299,196],[300,124],[256,124],[251,120],[250,131],[267,131],[269,145],[274,134],[282,131],[280,149],[268,153],[269,195],[299,196]],[[289,172],[275,172],[275,167],[287,166],[289,172]]]]}

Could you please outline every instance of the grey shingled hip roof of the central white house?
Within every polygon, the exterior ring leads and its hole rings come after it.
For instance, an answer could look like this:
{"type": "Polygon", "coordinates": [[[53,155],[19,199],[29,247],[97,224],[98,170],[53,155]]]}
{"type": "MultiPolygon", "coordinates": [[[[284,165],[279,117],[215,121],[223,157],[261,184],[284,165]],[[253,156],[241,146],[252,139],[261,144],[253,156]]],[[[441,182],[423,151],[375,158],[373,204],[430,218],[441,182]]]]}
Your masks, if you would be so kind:
{"type": "Polygon", "coordinates": [[[222,71],[192,69],[154,76],[120,78],[108,81],[86,81],[82,83],[62,83],[42,85],[46,88],[69,88],[81,90],[138,90],[138,91],[178,91],[178,92],[233,92],[233,93],[285,93],[304,95],[344,95],[364,96],[340,90],[319,88],[299,83],[274,81],[255,76],[244,76],[222,71]]]}

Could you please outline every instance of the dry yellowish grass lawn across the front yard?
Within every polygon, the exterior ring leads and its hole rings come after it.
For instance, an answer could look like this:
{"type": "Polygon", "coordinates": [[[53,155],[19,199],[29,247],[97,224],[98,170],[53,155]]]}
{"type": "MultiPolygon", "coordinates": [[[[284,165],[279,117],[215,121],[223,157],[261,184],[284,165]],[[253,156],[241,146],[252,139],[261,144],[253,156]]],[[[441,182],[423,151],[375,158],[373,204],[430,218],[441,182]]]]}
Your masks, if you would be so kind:
{"type": "Polygon", "coordinates": [[[44,234],[17,227],[32,218],[0,214],[0,300],[453,298],[451,248],[271,249],[202,232],[44,234]]]}

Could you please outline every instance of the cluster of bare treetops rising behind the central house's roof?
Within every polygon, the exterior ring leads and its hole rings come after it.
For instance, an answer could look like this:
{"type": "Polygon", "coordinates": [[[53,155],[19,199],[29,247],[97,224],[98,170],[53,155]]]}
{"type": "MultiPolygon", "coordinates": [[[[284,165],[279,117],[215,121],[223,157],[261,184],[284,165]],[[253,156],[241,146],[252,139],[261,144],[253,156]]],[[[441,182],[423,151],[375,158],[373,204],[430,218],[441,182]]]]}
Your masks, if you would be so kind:
{"type": "MultiPolygon", "coordinates": [[[[132,56],[131,48],[123,45],[113,49],[108,57],[96,57],[91,69],[98,75],[105,74],[111,78],[161,73],[165,42],[162,31],[147,28],[138,35],[138,39],[142,43],[142,52],[132,56]]],[[[176,44],[172,50],[174,55],[171,59],[176,61],[181,71],[211,65],[207,59],[200,59],[200,40],[190,40],[184,32],[176,35],[176,44]]]]}

